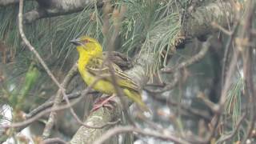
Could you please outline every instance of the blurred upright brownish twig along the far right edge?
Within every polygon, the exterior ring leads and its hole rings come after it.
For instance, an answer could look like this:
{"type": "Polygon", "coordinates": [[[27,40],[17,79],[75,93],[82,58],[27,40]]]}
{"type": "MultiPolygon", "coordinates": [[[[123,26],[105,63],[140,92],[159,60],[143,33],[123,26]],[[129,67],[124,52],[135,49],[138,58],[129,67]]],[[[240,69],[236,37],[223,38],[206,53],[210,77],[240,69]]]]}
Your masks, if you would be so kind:
{"type": "MultiPolygon", "coordinates": [[[[244,23],[241,29],[240,38],[244,40],[248,40],[248,42],[252,41],[252,35],[249,33],[252,27],[254,27],[254,12],[256,9],[254,0],[246,1],[246,12],[244,16],[244,23]]],[[[239,45],[239,44],[238,44],[239,45]]],[[[247,139],[250,138],[252,131],[255,126],[255,108],[256,108],[256,91],[254,88],[254,60],[253,60],[253,47],[254,46],[241,46],[242,50],[242,61],[243,61],[243,75],[245,80],[245,92],[249,97],[249,115],[250,122],[247,126],[247,131],[242,139],[242,143],[246,143],[247,139]]]]}

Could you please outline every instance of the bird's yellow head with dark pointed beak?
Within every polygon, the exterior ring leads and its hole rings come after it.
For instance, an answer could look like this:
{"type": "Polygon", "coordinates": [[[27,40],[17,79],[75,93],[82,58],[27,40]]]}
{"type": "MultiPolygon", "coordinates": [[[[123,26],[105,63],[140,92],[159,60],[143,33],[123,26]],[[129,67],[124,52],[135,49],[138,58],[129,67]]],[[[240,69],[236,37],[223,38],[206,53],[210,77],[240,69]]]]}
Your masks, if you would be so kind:
{"type": "Polygon", "coordinates": [[[83,53],[102,53],[101,44],[94,38],[88,36],[82,36],[80,38],[70,41],[78,50],[79,54],[83,53]]]}

